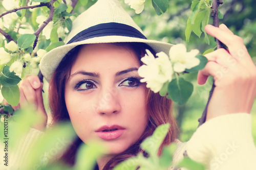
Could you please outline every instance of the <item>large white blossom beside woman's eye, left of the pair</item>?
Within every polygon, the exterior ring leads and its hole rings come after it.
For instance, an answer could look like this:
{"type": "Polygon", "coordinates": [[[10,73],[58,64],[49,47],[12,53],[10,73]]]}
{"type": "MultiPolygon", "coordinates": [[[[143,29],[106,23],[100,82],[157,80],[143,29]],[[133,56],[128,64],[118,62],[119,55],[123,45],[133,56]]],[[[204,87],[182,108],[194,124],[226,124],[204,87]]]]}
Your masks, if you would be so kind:
{"type": "Polygon", "coordinates": [[[146,55],[141,61],[146,65],[142,65],[138,69],[141,82],[146,82],[146,87],[151,88],[155,93],[160,91],[165,82],[172,80],[173,68],[168,56],[164,52],[157,53],[155,58],[153,54],[146,50],[146,55]]]}

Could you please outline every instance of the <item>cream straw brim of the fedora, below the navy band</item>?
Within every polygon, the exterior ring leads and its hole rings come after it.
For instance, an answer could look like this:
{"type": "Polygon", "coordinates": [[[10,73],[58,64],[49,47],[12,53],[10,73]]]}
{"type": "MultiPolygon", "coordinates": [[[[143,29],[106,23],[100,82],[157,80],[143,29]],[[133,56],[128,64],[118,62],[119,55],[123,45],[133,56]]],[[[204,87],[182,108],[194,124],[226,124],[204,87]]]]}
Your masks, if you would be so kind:
{"type": "Polygon", "coordinates": [[[135,37],[125,37],[125,36],[94,37],[94,38],[62,45],[48,52],[40,61],[39,67],[40,67],[41,73],[45,77],[45,79],[49,82],[55,69],[58,67],[60,61],[62,60],[62,58],[65,57],[65,55],[77,45],[94,44],[94,43],[114,43],[114,42],[143,42],[151,46],[156,53],[164,52],[166,54],[169,53],[170,47],[173,46],[173,44],[166,43],[166,42],[135,38],[135,37]]]}

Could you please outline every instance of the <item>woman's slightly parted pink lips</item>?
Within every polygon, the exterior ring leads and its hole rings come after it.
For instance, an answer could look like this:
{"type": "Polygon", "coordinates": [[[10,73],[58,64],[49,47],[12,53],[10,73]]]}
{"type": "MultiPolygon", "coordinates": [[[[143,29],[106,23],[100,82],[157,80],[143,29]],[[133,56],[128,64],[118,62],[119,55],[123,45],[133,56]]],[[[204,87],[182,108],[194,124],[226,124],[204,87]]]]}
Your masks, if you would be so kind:
{"type": "Polygon", "coordinates": [[[120,137],[125,128],[119,125],[105,125],[96,130],[96,134],[104,140],[112,140],[120,137]]]}

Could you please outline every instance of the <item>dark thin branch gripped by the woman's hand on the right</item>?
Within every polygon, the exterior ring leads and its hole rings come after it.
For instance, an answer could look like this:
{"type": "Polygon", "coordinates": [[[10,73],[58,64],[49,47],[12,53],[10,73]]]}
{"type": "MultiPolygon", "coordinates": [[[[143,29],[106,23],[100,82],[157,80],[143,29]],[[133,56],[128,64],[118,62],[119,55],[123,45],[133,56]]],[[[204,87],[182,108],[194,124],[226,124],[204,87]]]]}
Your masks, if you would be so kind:
{"type": "MultiPolygon", "coordinates": [[[[214,26],[215,27],[219,27],[218,7],[219,7],[220,4],[223,4],[222,0],[213,0],[212,1],[211,16],[212,16],[212,18],[214,20],[214,26]]],[[[222,44],[222,42],[220,40],[216,39],[216,43],[217,43],[217,49],[223,48],[223,44],[222,44]]],[[[206,106],[204,108],[203,114],[202,114],[201,118],[198,119],[199,126],[201,126],[203,123],[205,123],[206,116],[207,116],[207,108],[208,108],[208,105],[209,105],[212,93],[214,92],[214,89],[215,89],[215,83],[213,82],[211,90],[209,92],[209,98],[208,98],[207,104],[206,104],[206,106]]]]}

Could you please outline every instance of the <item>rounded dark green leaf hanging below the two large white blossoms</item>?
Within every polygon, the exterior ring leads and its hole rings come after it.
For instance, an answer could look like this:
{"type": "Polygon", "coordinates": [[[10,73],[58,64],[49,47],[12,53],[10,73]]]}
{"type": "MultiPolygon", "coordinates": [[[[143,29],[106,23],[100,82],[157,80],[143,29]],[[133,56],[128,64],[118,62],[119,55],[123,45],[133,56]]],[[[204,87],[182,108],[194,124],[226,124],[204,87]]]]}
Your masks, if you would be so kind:
{"type": "Polygon", "coordinates": [[[179,105],[187,102],[193,92],[193,84],[183,78],[173,79],[168,86],[169,97],[179,105]]]}

